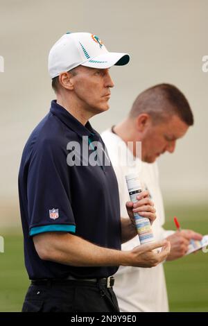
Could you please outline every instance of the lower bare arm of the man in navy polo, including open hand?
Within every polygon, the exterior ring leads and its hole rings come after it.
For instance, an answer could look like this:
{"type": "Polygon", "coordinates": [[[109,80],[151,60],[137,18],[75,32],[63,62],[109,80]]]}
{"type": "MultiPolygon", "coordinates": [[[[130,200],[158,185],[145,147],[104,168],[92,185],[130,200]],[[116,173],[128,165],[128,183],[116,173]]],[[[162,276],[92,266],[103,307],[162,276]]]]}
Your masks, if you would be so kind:
{"type": "Polygon", "coordinates": [[[157,266],[170,252],[167,241],[146,243],[130,251],[103,248],[67,233],[44,233],[33,237],[35,249],[43,260],[70,266],[157,266]],[[153,249],[164,246],[155,254],[153,249]]]}

